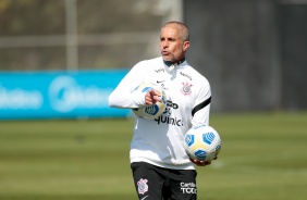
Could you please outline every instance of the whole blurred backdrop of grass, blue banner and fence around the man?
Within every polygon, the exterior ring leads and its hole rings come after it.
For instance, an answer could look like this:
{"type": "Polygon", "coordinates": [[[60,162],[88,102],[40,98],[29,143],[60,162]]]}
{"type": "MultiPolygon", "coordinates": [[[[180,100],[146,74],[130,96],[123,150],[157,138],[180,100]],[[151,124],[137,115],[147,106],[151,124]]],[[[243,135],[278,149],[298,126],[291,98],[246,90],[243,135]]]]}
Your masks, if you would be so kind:
{"type": "Polygon", "coordinates": [[[108,97],[182,21],[220,158],[199,199],[307,197],[307,0],[0,0],[0,199],[136,199],[108,97]]]}

